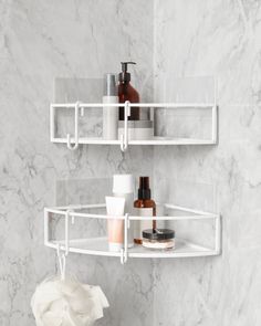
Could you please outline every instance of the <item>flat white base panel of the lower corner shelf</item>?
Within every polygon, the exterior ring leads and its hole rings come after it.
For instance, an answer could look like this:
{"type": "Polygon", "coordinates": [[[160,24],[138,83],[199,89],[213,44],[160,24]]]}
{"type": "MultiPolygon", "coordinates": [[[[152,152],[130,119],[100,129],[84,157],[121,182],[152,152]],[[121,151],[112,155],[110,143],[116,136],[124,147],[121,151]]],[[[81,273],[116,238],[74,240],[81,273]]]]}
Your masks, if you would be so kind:
{"type": "MultiPolygon", "coordinates": [[[[46,244],[50,248],[56,249],[60,245],[61,250],[65,250],[64,241],[54,241],[46,244]]],[[[69,252],[82,253],[90,255],[102,255],[102,256],[117,256],[121,257],[121,252],[109,252],[107,238],[91,238],[91,239],[77,239],[70,240],[69,242],[69,252]]],[[[217,255],[217,252],[213,249],[201,246],[195,244],[190,241],[182,239],[175,239],[175,249],[169,250],[149,250],[143,245],[135,244],[133,248],[127,250],[128,257],[192,257],[192,256],[209,256],[217,255]]]]}

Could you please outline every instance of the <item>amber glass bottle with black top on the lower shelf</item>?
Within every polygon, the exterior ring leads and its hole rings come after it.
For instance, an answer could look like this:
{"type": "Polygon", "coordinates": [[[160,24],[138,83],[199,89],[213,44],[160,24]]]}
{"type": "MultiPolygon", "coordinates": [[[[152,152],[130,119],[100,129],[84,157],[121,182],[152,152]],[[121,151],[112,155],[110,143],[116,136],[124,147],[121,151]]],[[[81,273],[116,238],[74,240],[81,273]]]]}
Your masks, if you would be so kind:
{"type": "MultiPolygon", "coordinates": [[[[138,199],[134,201],[135,215],[137,217],[155,217],[156,203],[152,199],[149,188],[149,177],[139,177],[138,199]]],[[[134,227],[134,242],[143,243],[143,231],[148,229],[156,229],[155,220],[139,220],[135,221],[134,227]]]]}

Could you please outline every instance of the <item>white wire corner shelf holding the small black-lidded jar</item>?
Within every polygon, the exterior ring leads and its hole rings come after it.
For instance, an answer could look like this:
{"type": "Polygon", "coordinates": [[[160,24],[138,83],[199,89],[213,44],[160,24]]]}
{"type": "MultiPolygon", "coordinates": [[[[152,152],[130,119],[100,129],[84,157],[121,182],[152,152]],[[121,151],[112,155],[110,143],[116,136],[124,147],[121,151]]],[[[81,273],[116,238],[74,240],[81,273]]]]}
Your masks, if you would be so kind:
{"type": "MultiPolygon", "coordinates": [[[[182,213],[174,215],[161,215],[161,217],[135,217],[135,215],[123,215],[117,219],[124,220],[124,249],[121,252],[108,251],[108,242],[106,236],[96,238],[83,238],[83,239],[70,239],[70,228],[73,228],[75,219],[102,219],[107,220],[112,217],[106,214],[95,214],[82,212],[86,209],[101,209],[105,204],[88,204],[88,206],[70,206],[70,207],[58,207],[58,208],[45,208],[44,209],[44,244],[55,250],[62,250],[67,253],[81,253],[88,255],[100,256],[115,256],[119,257],[122,263],[126,263],[128,259],[175,259],[175,257],[197,257],[197,256],[211,256],[218,255],[221,251],[221,221],[220,215],[209,212],[203,212],[194,209],[181,208],[174,204],[164,204],[166,209],[175,210],[182,213]],[[59,218],[64,219],[64,239],[55,240],[51,239],[51,218],[55,214],[59,218]],[[215,235],[212,244],[210,246],[195,243],[189,239],[175,239],[175,249],[173,250],[149,250],[142,245],[134,245],[133,248],[127,246],[128,228],[129,222],[135,220],[157,220],[157,221],[200,221],[200,220],[212,220],[215,228],[215,235]]],[[[178,235],[178,234],[177,234],[178,235]]]]}

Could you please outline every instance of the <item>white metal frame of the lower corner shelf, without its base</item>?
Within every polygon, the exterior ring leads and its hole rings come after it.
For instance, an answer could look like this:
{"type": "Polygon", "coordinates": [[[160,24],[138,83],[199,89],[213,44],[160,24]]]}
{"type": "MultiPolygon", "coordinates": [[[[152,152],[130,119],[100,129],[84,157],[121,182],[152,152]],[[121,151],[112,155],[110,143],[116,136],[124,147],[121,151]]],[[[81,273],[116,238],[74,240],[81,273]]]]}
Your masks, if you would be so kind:
{"type": "MultiPolygon", "coordinates": [[[[210,255],[219,255],[221,253],[221,217],[217,213],[210,213],[194,209],[188,209],[179,206],[174,206],[170,203],[164,204],[166,209],[178,210],[180,212],[186,213],[186,215],[158,215],[158,217],[135,217],[135,215],[122,215],[122,217],[114,217],[114,219],[124,220],[124,246],[121,252],[109,252],[108,250],[93,250],[93,249],[82,249],[71,245],[70,242],[70,227],[74,224],[75,218],[80,219],[112,219],[106,214],[95,214],[95,213],[83,213],[77,212],[81,209],[101,209],[105,208],[104,203],[100,204],[86,204],[86,206],[69,206],[69,207],[54,207],[54,208],[45,208],[44,209],[44,245],[59,250],[64,251],[67,255],[70,252],[74,253],[83,253],[90,255],[102,255],[102,256],[117,256],[121,259],[121,263],[124,264],[127,262],[128,259],[132,257],[195,257],[195,256],[210,256],[210,255]],[[64,240],[56,241],[51,239],[51,217],[52,214],[56,214],[60,218],[64,219],[64,240]],[[212,220],[215,221],[215,245],[213,248],[206,248],[199,244],[194,244],[190,252],[175,252],[173,251],[144,251],[138,252],[134,250],[129,250],[127,245],[128,239],[128,229],[130,221],[137,220],[157,220],[157,221],[188,221],[188,220],[212,220]]],[[[92,239],[92,238],[91,238],[92,239]]],[[[101,238],[96,238],[98,240],[101,238]]],[[[84,240],[84,239],[82,239],[84,240]]],[[[93,239],[95,241],[95,239],[93,239]]],[[[79,240],[81,241],[81,240],[79,240]]],[[[106,239],[104,239],[106,241],[106,239]]],[[[185,243],[189,243],[188,241],[184,241],[185,243]]],[[[191,245],[191,243],[189,243],[191,245]]]]}

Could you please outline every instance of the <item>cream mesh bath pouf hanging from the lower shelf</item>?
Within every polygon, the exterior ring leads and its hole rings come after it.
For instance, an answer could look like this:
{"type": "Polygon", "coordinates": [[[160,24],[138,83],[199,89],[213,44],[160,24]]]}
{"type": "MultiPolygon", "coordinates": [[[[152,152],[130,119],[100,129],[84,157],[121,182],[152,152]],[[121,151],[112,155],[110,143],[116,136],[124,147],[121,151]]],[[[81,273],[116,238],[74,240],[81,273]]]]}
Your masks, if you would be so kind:
{"type": "Polygon", "coordinates": [[[36,326],[92,326],[108,302],[100,286],[52,277],[36,286],[31,307],[36,326]]]}

